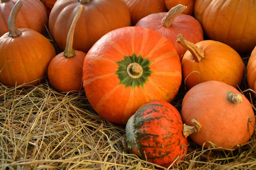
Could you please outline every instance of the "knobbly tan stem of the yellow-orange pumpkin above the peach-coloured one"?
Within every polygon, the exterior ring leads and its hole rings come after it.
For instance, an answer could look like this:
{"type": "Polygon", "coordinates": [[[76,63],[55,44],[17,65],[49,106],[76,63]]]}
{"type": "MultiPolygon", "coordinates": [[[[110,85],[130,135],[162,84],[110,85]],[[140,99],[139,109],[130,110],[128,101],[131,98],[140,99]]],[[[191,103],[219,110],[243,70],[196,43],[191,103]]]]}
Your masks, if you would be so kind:
{"type": "Polygon", "coordinates": [[[200,62],[204,58],[204,50],[198,48],[192,42],[185,40],[182,34],[177,35],[177,42],[191,52],[195,61],[200,62]]]}

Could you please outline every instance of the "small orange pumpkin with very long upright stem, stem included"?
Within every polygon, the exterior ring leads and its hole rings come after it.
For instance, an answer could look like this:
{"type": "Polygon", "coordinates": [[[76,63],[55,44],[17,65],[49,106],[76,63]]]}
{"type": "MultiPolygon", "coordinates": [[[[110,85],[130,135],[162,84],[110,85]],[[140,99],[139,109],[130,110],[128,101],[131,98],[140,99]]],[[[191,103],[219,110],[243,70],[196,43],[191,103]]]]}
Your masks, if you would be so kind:
{"type": "Polygon", "coordinates": [[[48,67],[49,81],[60,92],[80,91],[83,88],[83,63],[86,54],[73,49],[73,34],[79,19],[82,6],[78,7],[76,15],[67,36],[67,46],[64,52],[55,56],[48,67]]]}

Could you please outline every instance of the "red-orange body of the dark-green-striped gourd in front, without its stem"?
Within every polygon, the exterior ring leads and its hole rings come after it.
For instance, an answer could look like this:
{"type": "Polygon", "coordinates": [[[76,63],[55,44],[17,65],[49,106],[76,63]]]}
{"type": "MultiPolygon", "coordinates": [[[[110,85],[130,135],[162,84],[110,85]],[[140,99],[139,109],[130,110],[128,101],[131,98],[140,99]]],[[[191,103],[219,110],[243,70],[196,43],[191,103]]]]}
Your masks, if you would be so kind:
{"type": "Polygon", "coordinates": [[[178,156],[185,159],[188,146],[180,113],[168,102],[157,100],[142,105],[128,120],[126,141],[135,141],[128,142],[128,147],[142,159],[166,168],[178,156]]]}

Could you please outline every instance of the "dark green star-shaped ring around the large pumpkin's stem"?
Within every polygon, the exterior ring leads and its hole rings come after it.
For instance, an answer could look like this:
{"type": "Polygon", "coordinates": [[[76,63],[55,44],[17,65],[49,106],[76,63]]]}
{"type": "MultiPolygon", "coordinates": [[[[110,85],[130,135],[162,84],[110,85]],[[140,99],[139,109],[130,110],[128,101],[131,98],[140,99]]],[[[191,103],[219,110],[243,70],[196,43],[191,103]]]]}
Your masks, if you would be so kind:
{"type": "MultiPolygon", "coordinates": [[[[150,71],[149,65],[151,65],[151,62],[148,61],[148,58],[143,59],[141,55],[137,57],[135,53],[131,56],[124,56],[124,59],[116,62],[116,64],[119,65],[118,70],[115,73],[118,75],[118,79],[120,80],[119,85],[125,85],[125,88],[130,86],[132,89],[140,86],[143,88],[143,84],[148,81],[148,77],[153,73],[150,71]],[[137,79],[131,78],[126,71],[127,66],[134,62],[138,63],[143,68],[142,76],[137,79]]],[[[134,76],[136,75],[131,69],[130,73],[134,76]]]]}

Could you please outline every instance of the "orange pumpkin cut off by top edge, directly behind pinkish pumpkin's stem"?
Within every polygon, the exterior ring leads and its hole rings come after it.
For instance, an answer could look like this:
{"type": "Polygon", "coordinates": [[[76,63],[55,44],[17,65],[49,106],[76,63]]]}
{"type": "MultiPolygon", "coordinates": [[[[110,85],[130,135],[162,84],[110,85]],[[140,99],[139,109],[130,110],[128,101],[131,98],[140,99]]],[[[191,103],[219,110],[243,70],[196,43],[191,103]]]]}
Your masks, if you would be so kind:
{"type": "Polygon", "coordinates": [[[181,4],[187,6],[187,8],[182,12],[183,14],[192,15],[194,12],[195,0],[165,0],[166,7],[168,10],[181,4]]]}

